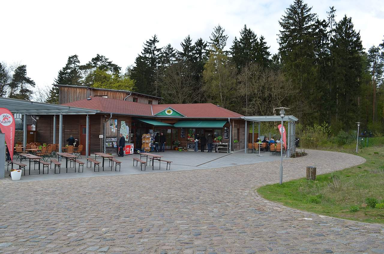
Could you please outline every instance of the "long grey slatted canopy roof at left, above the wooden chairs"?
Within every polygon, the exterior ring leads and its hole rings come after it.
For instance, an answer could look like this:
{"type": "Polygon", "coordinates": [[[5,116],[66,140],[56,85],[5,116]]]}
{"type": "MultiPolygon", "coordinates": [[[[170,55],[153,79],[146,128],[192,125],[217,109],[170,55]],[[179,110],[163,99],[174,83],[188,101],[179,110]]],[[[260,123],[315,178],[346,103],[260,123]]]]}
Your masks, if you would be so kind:
{"type": "Polygon", "coordinates": [[[4,107],[12,113],[28,115],[54,115],[54,114],[96,114],[100,111],[95,109],[84,109],[81,107],[63,106],[42,102],[24,101],[0,97],[0,107],[4,107]]]}

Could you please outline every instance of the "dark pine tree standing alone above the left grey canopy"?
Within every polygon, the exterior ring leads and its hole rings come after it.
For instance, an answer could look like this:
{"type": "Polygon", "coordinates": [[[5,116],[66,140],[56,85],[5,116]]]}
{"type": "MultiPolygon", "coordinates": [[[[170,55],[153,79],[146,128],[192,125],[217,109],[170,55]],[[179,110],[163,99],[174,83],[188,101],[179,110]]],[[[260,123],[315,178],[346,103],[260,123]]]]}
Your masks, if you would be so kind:
{"type": "Polygon", "coordinates": [[[35,87],[35,81],[26,76],[26,65],[20,65],[15,69],[10,82],[10,98],[30,100],[32,87],[35,87]]]}

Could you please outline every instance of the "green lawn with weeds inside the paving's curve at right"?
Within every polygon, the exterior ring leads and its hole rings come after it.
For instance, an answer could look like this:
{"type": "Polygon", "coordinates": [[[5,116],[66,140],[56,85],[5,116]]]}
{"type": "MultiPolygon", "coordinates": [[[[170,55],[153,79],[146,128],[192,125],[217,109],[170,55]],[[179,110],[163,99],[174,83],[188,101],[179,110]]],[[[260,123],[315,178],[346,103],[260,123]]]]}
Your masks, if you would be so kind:
{"type": "Polygon", "coordinates": [[[316,181],[301,178],[257,191],[267,200],[303,211],[384,224],[384,207],[371,208],[366,200],[384,203],[384,147],[365,147],[359,155],[366,159],[359,166],[318,175],[316,181]]]}

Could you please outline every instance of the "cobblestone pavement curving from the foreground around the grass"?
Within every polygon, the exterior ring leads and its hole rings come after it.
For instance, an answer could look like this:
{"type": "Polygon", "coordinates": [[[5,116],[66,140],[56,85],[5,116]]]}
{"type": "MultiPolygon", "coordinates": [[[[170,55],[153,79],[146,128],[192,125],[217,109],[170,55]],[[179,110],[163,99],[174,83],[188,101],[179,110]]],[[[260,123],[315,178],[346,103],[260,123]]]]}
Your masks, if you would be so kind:
{"type": "MultiPolygon", "coordinates": [[[[284,180],[357,165],[309,151],[284,162],[284,180]]],[[[384,226],[297,211],[255,186],[278,162],[146,175],[0,182],[0,253],[384,253],[384,226]]]]}

